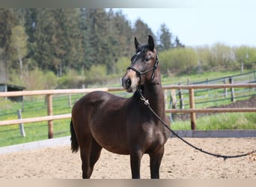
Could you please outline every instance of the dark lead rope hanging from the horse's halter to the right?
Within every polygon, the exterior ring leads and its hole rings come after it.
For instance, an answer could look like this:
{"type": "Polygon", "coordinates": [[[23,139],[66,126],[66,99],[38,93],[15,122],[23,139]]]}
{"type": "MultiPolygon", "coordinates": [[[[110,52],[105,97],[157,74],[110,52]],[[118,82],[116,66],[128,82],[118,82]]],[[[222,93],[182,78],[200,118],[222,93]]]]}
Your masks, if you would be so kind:
{"type": "Polygon", "coordinates": [[[217,158],[223,158],[224,160],[226,159],[233,159],[233,158],[239,158],[239,157],[243,157],[243,156],[250,156],[250,155],[254,155],[253,153],[256,153],[256,150],[253,150],[252,152],[249,153],[244,153],[244,154],[240,154],[240,155],[234,155],[234,156],[226,156],[226,155],[220,155],[220,154],[216,154],[216,153],[210,153],[206,150],[203,150],[199,147],[196,147],[195,145],[190,144],[188,141],[184,140],[183,138],[180,137],[180,135],[178,135],[176,132],[174,132],[172,129],[170,129],[170,127],[165,123],[165,121],[163,121],[161,119],[161,117],[159,117],[155,111],[153,111],[153,109],[150,107],[150,103],[149,101],[143,96],[142,91],[140,88],[137,88],[138,93],[141,96],[141,100],[144,101],[144,105],[146,105],[150,111],[154,114],[154,116],[169,130],[171,131],[171,133],[173,133],[175,136],[177,136],[177,138],[179,138],[181,141],[183,141],[184,143],[188,144],[190,147],[193,147],[195,150],[199,150],[202,153],[205,153],[207,155],[210,156],[216,156],[217,158]]]}

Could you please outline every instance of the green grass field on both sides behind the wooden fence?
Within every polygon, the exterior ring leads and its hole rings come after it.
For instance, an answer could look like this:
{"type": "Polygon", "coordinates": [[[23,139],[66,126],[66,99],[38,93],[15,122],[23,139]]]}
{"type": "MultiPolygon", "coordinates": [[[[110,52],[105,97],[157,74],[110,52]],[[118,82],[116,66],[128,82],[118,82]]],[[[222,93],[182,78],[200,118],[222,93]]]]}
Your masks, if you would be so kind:
{"type": "MultiPolygon", "coordinates": [[[[163,85],[174,85],[177,82],[183,82],[189,79],[193,80],[205,80],[212,79],[221,76],[231,76],[234,73],[204,73],[196,76],[182,76],[174,78],[163,78],[163,85]]],[[[108,87],[120,86],[109,85],[108,87]]],[[[99,86],[100,87],[100,86],[99,86]]],[[[106,87],[106,85],[101,86],[106,87]]],[[[249,91],[250,92],[250,91],[249,91]]],[[[252,91],[250,92],[252,93],[252,91]]],[[[253,90],[255,94],[255,89],[253,90]]],[[[129,93],[120,92],[121,96],[131,96],[129,93]]],[[[186,93],[184,93],[186,95],[186,93]]],[[[207,90],[198,91],[195,93],[197,101],[202,101],[201,104],[197,104],[196,108],[205,108],[213,105],[225,105],[231,102],[230,99],[217,100],[219,95],[223,94],[223,90],[207,90]],[[212,98],[213,101],[205,102],[204,97],[212,98]]],[[[71,96],[71,105],[73,105],[82,94],[76,94],[71,96]]],[[[187,95],[188,96],[188,95],[187,95]]],[[[248,99],[249,97],[241,97],[240,99],[248,99]]],[[[168,100],[170,98],[168,97],[168,100]]],[[[188,99],[185,99],[185,104],[188,103],[188,99]]],[[[22,110],[22,118],[27,117],[41,117],[47,115],[47,104],[44,96],[25,96],[24,102],[10,102],[8,99],[0,98],[0,120],[12,120],[17,119],[17,110],[22,110]]],[[[186,105],[185,108],[188,108],[186,105]]],[[[69,98],[67,95],[53,96],[53,114],[67,114],[71,112],[69,105],[69,98]]],[[[29,141],[38,141],[48,138],[48,126],[47,121],[38,123],[25,123],[26,137],[22,137],[19,132],[19,125],[0,126],[0,147],[20,144],[29,141]]],[[[190,129],[190,122],[183,120],[175,120],[171,124],[172,129],[190,129]]],[[[66,120],[54,120],[54,138],[70,135],[70,119],[66,120]]],[[[214,114],[210,116],[197,118],[197,129],[256,129],[256,115],[254,113],[226,113],[226,114],[214,114]]]]}

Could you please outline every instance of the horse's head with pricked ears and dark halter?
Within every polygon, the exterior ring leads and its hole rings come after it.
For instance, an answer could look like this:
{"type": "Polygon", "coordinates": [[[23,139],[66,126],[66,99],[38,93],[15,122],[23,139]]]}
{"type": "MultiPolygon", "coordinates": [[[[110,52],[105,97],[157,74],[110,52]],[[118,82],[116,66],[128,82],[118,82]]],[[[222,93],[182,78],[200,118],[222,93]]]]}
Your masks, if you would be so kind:
{"type": "Polygon", "coordinates": [[[153,37],[149,35],[147,44],[142,45],[135,37],[134,43],[136,52],[132,55],[132,63],[122,79],[122,85],[128,92],[135,91],[145,83],[152,82],[158,66],[153,37]]]}

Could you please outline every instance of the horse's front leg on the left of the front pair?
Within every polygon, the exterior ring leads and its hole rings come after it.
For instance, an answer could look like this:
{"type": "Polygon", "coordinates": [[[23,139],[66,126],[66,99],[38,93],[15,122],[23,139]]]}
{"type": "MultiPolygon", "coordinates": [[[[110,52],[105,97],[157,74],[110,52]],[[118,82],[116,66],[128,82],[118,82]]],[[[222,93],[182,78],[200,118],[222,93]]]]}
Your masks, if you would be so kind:
{"type": "Polygon", "coordinates": [[[141,157],[143,153],[141,150],[132,150],[130,153],[130,165],[132,169],[132,179],[141,178],[141,157]]]}

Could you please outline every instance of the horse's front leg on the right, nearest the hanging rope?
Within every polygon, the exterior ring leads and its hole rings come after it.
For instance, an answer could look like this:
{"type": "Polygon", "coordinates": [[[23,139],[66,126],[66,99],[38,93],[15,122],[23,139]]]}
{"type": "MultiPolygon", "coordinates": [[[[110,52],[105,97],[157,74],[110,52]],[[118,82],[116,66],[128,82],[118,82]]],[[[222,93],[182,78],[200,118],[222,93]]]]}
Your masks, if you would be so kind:
{"type": "Polygon", "coordinates": [[[165,147],[162,146],[155,153],[150,153],[150,177],[151,179],[159,179],[159,168],[162,162],[162,156],[165,147]]]}

